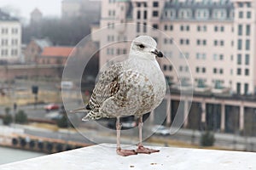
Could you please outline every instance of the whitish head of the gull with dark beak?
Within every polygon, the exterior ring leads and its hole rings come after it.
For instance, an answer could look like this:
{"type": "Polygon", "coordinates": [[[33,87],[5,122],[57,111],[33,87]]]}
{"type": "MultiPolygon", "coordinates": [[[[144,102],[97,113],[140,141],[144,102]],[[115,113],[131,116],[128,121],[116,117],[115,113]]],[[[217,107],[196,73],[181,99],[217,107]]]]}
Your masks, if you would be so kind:
{"type": "Polygon", "coordinates": [[[156,42],[152,37],[139,36],[131,42],[130,54],[143,59],[155,59],[164,55],[156,48],[156,42]]]}

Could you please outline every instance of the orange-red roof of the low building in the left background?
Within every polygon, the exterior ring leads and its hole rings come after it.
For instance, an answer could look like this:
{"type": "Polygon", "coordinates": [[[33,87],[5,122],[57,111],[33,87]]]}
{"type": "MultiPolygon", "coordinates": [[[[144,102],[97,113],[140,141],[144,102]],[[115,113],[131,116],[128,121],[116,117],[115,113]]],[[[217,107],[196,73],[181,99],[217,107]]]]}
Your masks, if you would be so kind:
{"type": "Polygon", "coordinates": [[[42,52],[45,57],[68,57],[74,47],[46,47],[42,52]]]}

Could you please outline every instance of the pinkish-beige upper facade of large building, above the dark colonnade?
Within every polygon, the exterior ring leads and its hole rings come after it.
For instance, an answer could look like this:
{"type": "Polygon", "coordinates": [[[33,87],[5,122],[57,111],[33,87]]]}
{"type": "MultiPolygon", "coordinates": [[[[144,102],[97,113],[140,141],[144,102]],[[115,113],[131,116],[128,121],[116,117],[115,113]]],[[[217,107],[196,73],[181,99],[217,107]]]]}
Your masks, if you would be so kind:
{"type": "MultiPolygon", "coordinates": [[[[194,82],[195,90],[210,89],[218,94],[255,93],[255,1],[109,0],[102,1],[102,7],[98,27],[108,26],[108,32],[95,37],[101,47],[150,35],[172,59],[172,63],[160,60],[170,84],[188,82],[184,84],[192,87],[189,82],[194,82]],[[124,26],[114,25],[120,23],[124,26]]],[[[125,43],[103,48],[100,65],[113,56],[129,53],[129,48],[125,43]]]]}

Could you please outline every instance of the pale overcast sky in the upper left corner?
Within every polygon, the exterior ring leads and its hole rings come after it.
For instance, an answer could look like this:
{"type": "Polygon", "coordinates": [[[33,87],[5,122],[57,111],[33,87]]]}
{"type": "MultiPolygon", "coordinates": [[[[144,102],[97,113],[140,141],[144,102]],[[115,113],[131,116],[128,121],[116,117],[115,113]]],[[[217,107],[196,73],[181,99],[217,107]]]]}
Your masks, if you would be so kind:
{"type": "Polygon", "coordinates": [[[38,8],[44,16],[61,16],[62,0],[0,0],[0,8],[11,8],[15,14],[29,19],[34,8],[38,8]]]}

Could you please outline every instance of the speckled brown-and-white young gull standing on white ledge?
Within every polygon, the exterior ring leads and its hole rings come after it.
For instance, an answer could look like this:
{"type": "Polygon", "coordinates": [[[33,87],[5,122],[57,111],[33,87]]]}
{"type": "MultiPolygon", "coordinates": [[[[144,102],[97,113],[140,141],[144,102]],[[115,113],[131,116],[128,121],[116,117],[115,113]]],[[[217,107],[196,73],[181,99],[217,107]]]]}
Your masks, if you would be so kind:
{"type": "Polygon", "coordinates": [[[131,42],[128,59],[110,65],[102,71],[88,105],[71,112],[87,112],[83,121],[102,117],[116,118],[117,149],[120,156],[159,152],[143,146],[143,115],[153,111],[166,94],[166,80],[157,57],[163,54],[152,37],[139,36],[131,42]],[[139,144],[137,150],[120,146],[120,117],[138,118],[139,144]]]}

